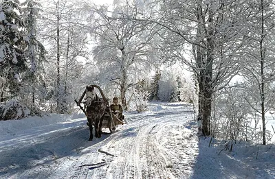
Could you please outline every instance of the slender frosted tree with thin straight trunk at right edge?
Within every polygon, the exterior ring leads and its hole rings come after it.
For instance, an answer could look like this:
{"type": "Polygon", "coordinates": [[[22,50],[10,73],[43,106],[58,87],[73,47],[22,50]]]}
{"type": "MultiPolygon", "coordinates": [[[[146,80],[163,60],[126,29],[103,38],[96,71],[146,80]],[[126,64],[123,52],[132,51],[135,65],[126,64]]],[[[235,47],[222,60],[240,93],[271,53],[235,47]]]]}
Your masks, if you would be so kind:
{"type": "Polygon", "coordinates": [[[250,1],[250,11],[245,25],[249,27],[245,38],[245,65],[242,74],[250,94],[247,102],[261,115],[263,144],[266,144],[265,113],[274,106],[274,3],[273,1],[250,1]]]}

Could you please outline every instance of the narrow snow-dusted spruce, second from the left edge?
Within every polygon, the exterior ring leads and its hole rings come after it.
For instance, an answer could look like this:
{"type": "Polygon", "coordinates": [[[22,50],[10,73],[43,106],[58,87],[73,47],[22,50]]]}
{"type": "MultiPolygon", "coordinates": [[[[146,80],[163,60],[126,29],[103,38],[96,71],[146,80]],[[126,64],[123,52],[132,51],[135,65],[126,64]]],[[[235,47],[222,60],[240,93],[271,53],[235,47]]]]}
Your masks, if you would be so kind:
{"type": "Polygon", "coordinates": [[[41,13],[41,4],[38,1],[28,0],[22,3],[22,19],[24,23],[25,57],[27,58],[28,73],[25,73],[24,88],[21,92],[23,101],[28,103],[31,99],[31,108],[34,110],[36,98],[41,98],[43,91],[43,61],[45,60],[45,48],[38,40],[36,23],[41,13]],[[42,87],[42,88],[41,88],[42,87]],[[28,95],[31,94],[31,95],[28,95]],[[29,97],[30,96],[30,97],[29,97]]]}

